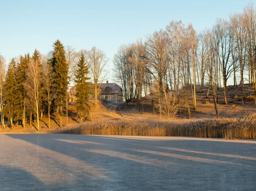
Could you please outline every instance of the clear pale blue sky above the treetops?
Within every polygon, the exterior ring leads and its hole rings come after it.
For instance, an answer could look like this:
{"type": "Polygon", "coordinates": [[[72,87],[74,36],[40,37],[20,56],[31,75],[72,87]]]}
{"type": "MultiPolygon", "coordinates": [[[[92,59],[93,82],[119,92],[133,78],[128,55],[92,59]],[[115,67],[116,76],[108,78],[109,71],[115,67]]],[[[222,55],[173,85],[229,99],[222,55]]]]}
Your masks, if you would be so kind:
{"type": "MultiPolygon", "coordinates": [[[[117,48],[165,28],[172,20],[210,28],[251,0],[0,0],[0,53],[12,57],[52,49],[59,39],[79,50],[93,46],[109,57],[117,48]]],[[[110,70],[109,69],[109,70],[110,70]]]]}

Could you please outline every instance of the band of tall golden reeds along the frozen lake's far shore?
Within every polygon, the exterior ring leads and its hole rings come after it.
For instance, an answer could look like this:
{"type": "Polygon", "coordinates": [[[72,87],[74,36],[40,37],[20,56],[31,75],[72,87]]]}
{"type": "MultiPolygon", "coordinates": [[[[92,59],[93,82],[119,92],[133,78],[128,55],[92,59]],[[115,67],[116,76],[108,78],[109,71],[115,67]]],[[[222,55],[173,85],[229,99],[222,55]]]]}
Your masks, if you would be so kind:
{"type": "Polygon", "coordinates": [[[187,120],[183,123],[108,120],[70,125],[58,128],[54,133],[256,139],[256,114],[244,118],[187,120]]]}

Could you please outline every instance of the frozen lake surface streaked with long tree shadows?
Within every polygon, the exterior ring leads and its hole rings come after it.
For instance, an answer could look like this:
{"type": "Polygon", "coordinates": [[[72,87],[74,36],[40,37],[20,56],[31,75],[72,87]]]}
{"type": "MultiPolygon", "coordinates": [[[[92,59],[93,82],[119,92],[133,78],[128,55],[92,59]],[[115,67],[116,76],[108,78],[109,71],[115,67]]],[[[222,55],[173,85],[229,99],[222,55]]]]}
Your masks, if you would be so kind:
{"type": "Polygon", "coordinates": [[[0,191],[255,191],[256,141],[0,134],[0,191]]]}

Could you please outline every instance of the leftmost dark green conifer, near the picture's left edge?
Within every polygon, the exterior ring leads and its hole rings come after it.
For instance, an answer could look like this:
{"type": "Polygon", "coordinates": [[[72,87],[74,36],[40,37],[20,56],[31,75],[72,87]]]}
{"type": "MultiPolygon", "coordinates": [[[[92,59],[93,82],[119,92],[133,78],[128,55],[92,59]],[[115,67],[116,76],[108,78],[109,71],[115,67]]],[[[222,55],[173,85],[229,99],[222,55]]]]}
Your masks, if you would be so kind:
{"type": "Polygon", "coordinates": [[[12,58],[9,63],[7,74],[6,74],[6,83],[4,86],[3,97],[5,101],[5,106],[3,108],[4,114],[8,117],[10,121],[10,127],[13,127],[14,119],[14,108],[15,108],[15,99],[16,99],[16,80],[15,80],[15,71],[16,71],[16,62],[12,58]]]}

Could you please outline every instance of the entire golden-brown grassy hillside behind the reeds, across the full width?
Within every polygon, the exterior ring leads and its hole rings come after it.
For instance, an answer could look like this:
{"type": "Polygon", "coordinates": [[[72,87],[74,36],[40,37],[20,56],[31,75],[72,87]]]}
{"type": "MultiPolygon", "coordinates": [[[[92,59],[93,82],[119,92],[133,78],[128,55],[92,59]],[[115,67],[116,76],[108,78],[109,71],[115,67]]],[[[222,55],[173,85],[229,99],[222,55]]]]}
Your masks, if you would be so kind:
{"type": "MultiPolygon", "coordinates": [[[[230,87],[227,90],[227,105],[224,105],[224,94],[223,90],[218,92],[218,111],[220,117],[230,117],[230,118],[240,118],[249,116],[256,112],[256,106],[254,105],[253,96],[247,97],[244,99],[244,105],[241,103],[241,87],[230,87]],[[235,107],[234,107],[235,106],[235,107]]],[[[244,86],[244,95],[253,94],[253,90],[249,85],[244,86]]],[[[196,94],[197,100],[197,110],[193,110],[192,105],[192,96],[189,94],[189,105],[191,109],[191,117],[194,120],[202,119],[214,119],[215,110],[212,94],[209,93],[207,96],[207,89],[204,91],[198,92],[196,94]],[[209,102],[209,103],[208,103],[209,102]],[[206,104],[207,103],[207,104],[206,104]]],[[[154,96],[153,96],[154,97],[154,96]]],[[[108,120],[130,120],[130,121],[167,121],[167,117],[163,115],[160,119],[159,109],[157,100],[154,99],[155,105],[155,114],[152,113],[151,106],[151,95],[143,97],[143,108],[144,113],[142,112],[142,104],[130,102],[125,105],[124,102],[110,102],[107,100],[99,100],[98,105],[93,109],[92,121],[93,122],[104,122],[108,120]]],[[[62,118],[63,124],[66,124],[66,117],[62,118]]],[[[77,124],[80,119],[77,119],[76,106],[74,103],[69,103],[68,105],[68,124],[77,124]]],[[[188,119],[187,111],[184,112],[184,100],[180,96],[180,108],[178,109],[175,117],[172,117],[172,122],[176,123],[186,123],[190,121],[188,119]],[[181,112],[180,112],[181,111],[181,112]]],[[[85,118],[84,123],[90,123],[90,116],[85,118]]],[[[35,123],[34,123],[35,124],[35,123]]],[[[38,133],[35,128],[35,125],[26,124],[25,128],[22,128],[21,125],[16,125],[13,129],[6,128],[2,129],[2,133],[38,133]]],[[[58,128],[54,115],[51,115],[51,128],[48,128],[48,117],[42,117],[40,120],[41,133],[51,132],[58,128]]]]}

